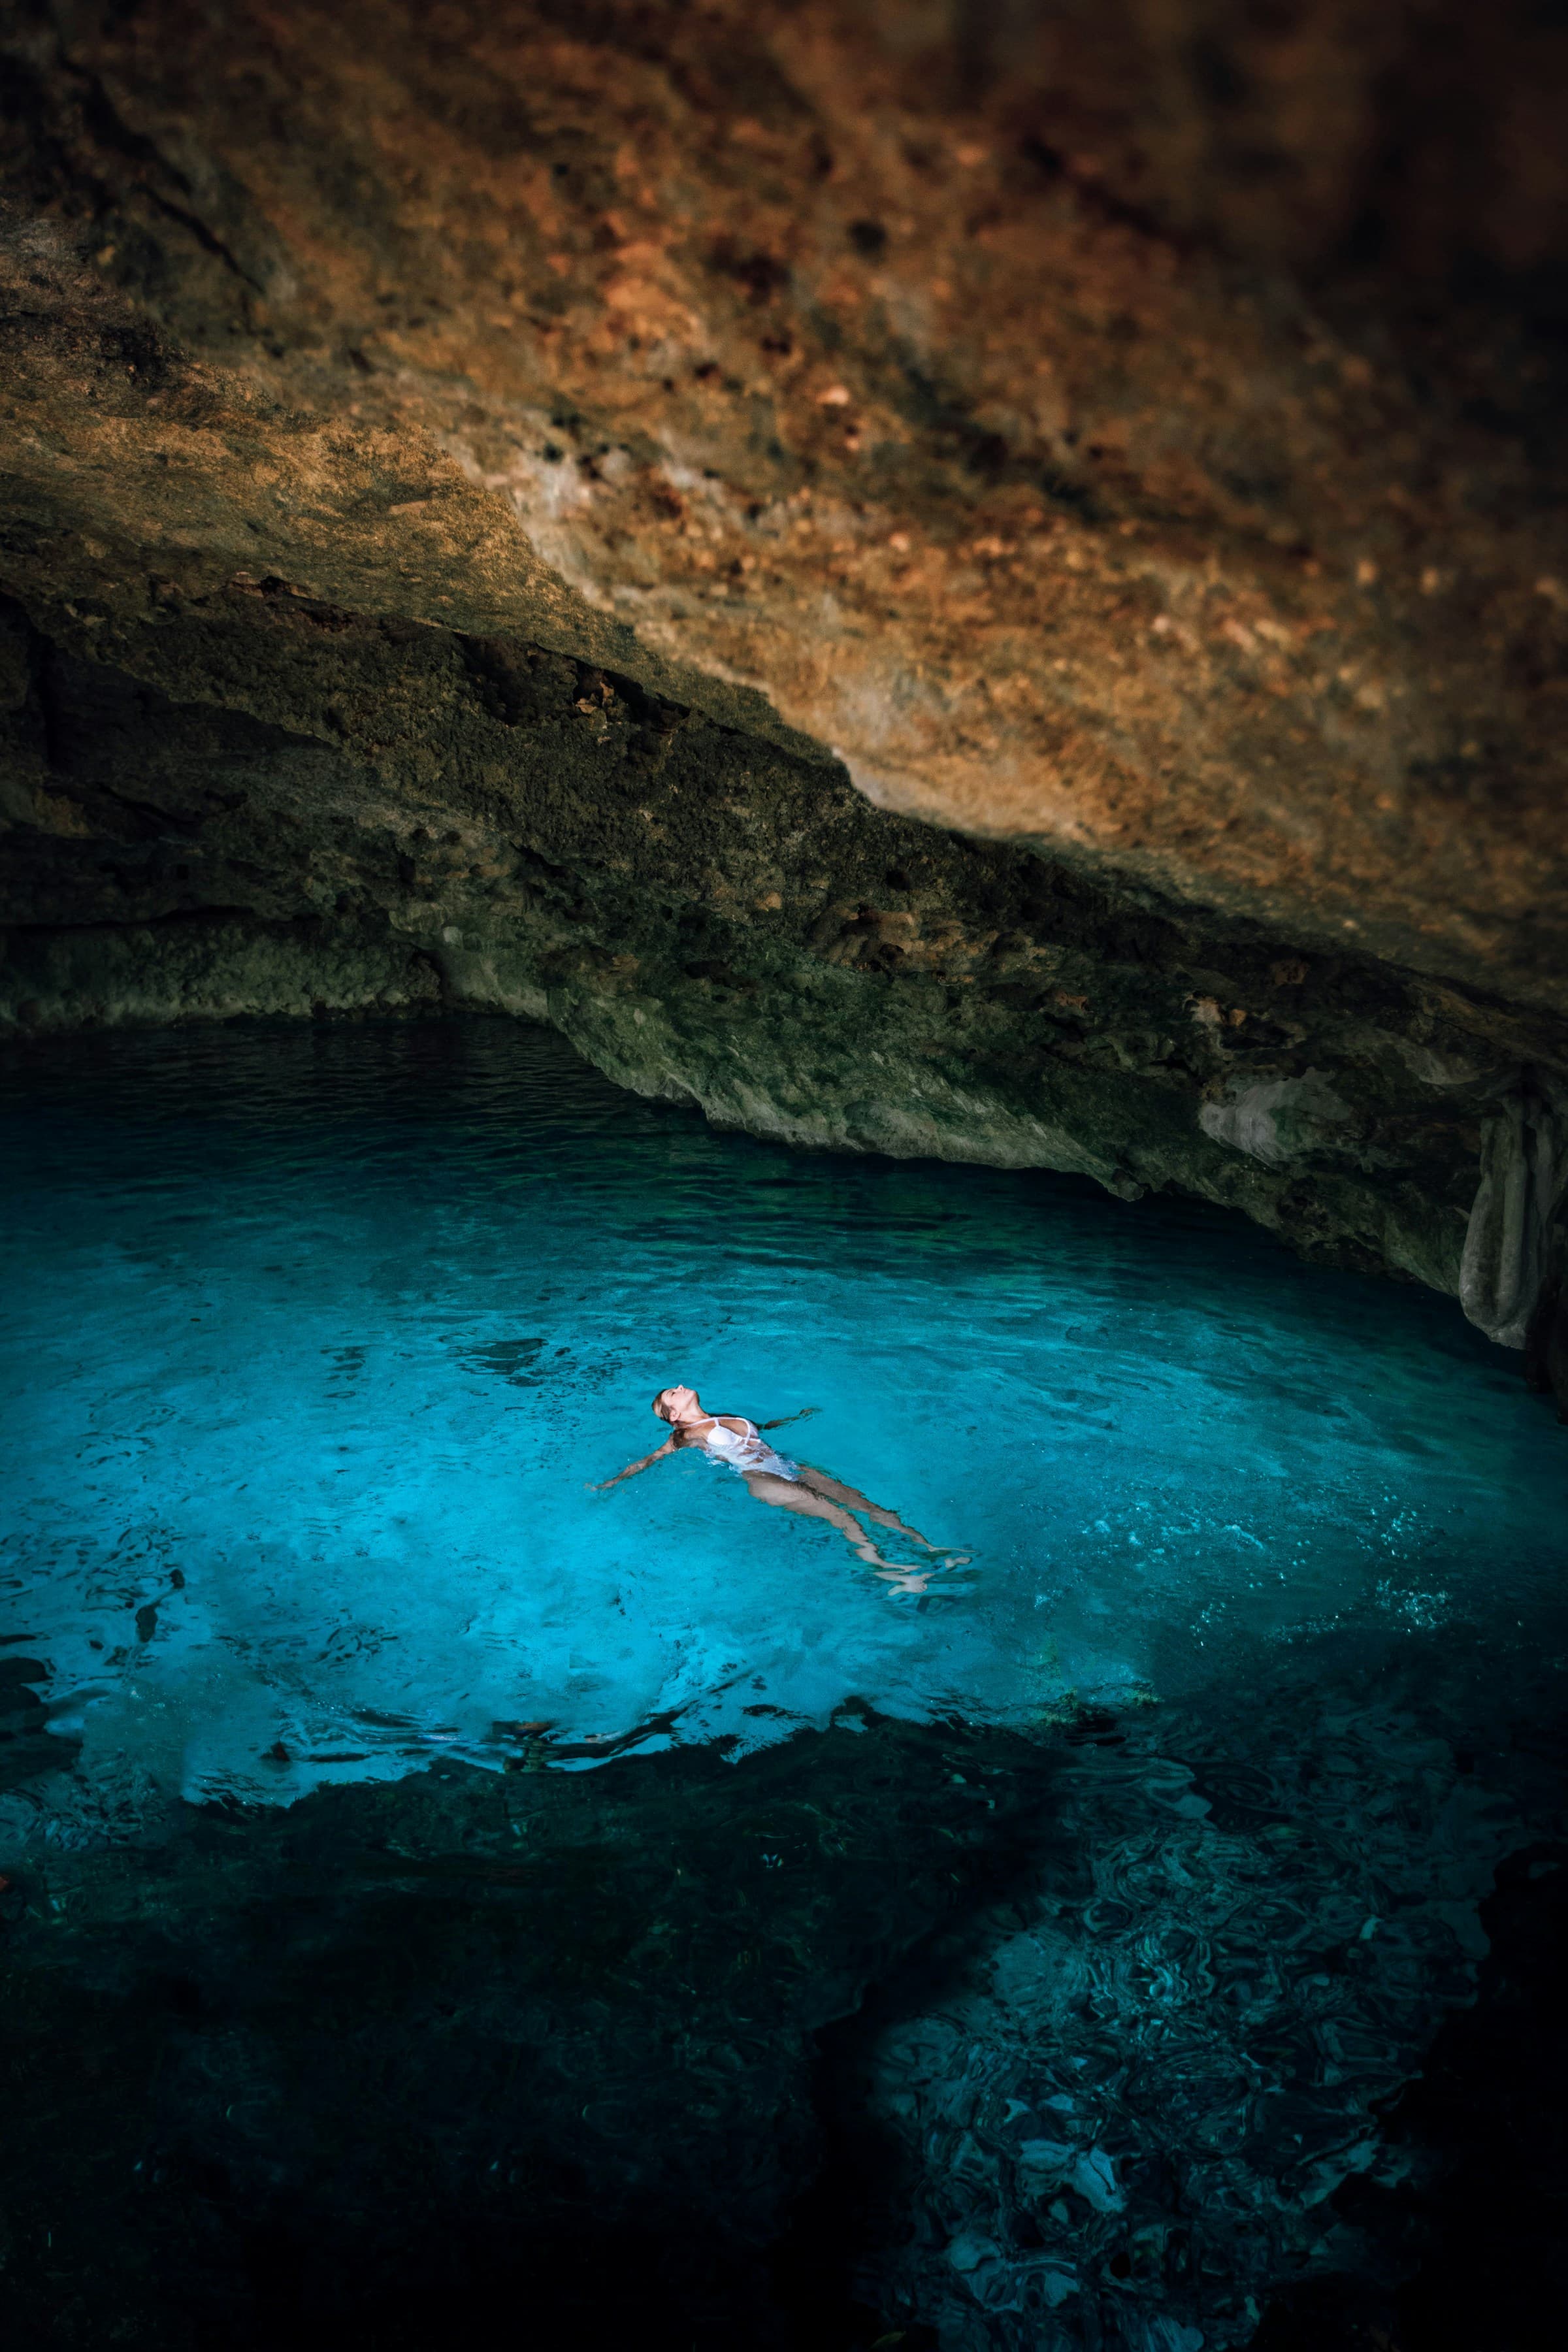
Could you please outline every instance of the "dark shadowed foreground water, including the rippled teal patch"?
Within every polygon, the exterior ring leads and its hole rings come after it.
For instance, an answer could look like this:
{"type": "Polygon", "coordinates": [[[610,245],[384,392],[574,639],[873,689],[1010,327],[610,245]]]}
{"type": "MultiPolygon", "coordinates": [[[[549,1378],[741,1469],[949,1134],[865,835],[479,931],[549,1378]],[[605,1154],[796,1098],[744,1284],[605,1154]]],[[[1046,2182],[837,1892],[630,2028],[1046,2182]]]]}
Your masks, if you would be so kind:
{"type": "Polygon", "coordinates": [[[505,2296],[682,2352],[1241,2345],[1281,2279],[1378,2272],[1333,2192],[1408,2169],[1380,2110],[1526,1835],[1396,1703],[1281,1686],[1241,1740],[851,1715],[40,1842],[16,2324],[425,2347],[505,2296]]]}

